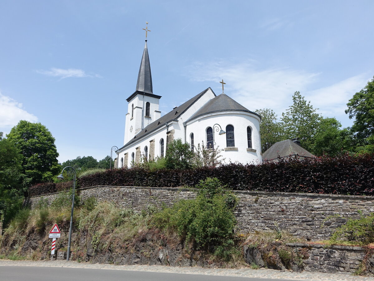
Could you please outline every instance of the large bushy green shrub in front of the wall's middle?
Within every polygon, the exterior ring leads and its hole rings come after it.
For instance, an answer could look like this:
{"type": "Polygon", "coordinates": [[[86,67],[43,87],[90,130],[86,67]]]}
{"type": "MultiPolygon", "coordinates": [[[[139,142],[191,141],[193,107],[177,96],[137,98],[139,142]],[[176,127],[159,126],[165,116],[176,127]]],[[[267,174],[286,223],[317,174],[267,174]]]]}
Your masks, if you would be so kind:
{"type": "Polygon", "coordinates": [[[233,207],[236,199],[223,190],[217,179],[201,181],[196,199],[181,200],[171,208],[154,215],[151,224],[162,229],[175,229],[181,238],[197,247],[213,246],[217,254],[230,248],[236,220],[233,207]],[[217,248],[221,246],[221,248],[217,248]]]}

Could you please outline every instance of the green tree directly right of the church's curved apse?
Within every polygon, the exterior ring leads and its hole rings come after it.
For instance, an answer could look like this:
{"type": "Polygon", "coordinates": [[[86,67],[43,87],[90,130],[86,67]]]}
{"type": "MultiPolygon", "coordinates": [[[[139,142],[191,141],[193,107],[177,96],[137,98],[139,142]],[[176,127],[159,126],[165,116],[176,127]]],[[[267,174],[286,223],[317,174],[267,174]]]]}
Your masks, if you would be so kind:
{"type": "Polygon", "coordinates": [[[255,112],[261,116],[261,151],[265,152],[274,143],[285,138],[283,123],[277,121],[277,115],[272,109],[257,109],[255,112]]]}

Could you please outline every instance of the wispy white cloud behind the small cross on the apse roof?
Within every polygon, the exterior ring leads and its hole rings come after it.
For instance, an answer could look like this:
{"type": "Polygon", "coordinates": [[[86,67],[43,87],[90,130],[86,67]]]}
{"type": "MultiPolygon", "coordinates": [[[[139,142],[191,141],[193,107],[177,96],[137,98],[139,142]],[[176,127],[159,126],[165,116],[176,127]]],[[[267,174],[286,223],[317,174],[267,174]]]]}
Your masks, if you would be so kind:
{"type": "Polygon", "coordinates": [[[295,91],[304,91],[315,81],[318,73],[292,69],[269,68],[257,70],[255,61],[226,64],[195,64],[190,70],[194,80],[213,82],[214,91],[222,90],[218,81],[224,79],[225,94],[254,111],[271,108],[280,115],[291,104],[295,91]],[[221,90],[220,90],[221,89],[221,90]]]}

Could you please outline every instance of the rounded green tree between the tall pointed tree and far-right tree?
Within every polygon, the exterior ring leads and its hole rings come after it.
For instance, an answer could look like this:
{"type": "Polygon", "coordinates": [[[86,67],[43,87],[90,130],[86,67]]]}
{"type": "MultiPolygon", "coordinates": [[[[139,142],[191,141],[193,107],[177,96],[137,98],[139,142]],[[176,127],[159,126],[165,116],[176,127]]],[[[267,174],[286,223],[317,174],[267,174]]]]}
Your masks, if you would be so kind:
{"type": "Polygon", "coordinates": [[[310,152],[321,156],[336,156],[341,152],[352,150],[352,135],[348,128],[340,129],[341,124],[335,118],[322,118],[313,136],[310,152]]]}

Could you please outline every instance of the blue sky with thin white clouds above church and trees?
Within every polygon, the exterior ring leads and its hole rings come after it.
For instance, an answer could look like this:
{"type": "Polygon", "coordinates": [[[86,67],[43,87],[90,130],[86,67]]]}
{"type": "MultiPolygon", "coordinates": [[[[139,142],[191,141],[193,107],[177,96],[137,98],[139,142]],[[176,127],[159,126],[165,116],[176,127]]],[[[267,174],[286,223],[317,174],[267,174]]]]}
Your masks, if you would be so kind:
{"type": "MultiPolygon", "coordinates": [[[[0,132],[40,122],[62,163],[123,146],[148,21],[162,115],[208,87],[278,117],[344,113],[374,76],[374,1],[0,0],[0,132]]],[[[114,153],[113,153],[114,154],[114,153]]]]}

